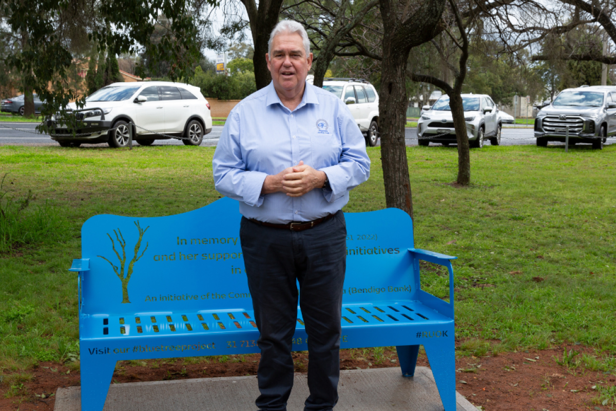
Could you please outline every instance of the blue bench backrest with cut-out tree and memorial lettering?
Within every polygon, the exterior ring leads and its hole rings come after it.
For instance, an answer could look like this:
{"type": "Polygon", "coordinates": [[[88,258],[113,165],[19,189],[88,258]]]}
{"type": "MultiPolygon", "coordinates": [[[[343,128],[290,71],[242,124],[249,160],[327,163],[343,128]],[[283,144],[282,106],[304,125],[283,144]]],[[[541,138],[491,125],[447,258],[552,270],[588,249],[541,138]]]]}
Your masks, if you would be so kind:
{"type": "MultiPolygon", "coordinates": [[[[407,251],[413,248],[408,214],[389,208],[345,216],[344,303],[414,299],[419,280],[407,251]]],[[[88,219],[81,232],[90,267],[82,314],[251,310],[240,218],[237,201],[222,198],[175,216],[88,219]]]]}

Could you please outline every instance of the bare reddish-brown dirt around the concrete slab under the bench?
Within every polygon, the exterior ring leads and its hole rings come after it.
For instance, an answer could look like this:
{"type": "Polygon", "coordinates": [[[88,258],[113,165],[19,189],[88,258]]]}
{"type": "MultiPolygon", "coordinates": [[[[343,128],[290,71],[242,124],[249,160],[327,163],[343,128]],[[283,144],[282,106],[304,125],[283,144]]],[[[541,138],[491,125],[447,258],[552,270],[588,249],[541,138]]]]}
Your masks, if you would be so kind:
{"type": "MultiPolygon", "coordinates": [[[[559,365],[559,347],[543,351],[508,352],[491,357],[462,357],[456,360],[456,389],[472,404],[487,411],[509,410],[608,410],[596,405],[595,385],[616,383],[616,376],[591,372],[581,367],[570,369],[559,365]]],[[[593,354],[592,349],[573,347],[575,351],[593,354]]],[[[306,372],[308,355],[294,352],[296,372],[306,372]]],[[[114,383],[137,381],[182,380],[217,376],[254,375],[259,355],[203,357],[200,359],[168,359],[124,361],[113,373],[114,383]]],[[[428,366],[420,355],[418,365],[428,366]]],[[[395,350],[352,349],[341,351],[340,368],[399,367],[395,350]]],[[[55,391],[59,387],[78,386],[79,372],[53,362],[44,362],[28,370],[30,381],[22,379],[20,394],[6,397],[10,375],[4,374],[0,387],[0,410],[53,410],[55,391]],[[43,397],[44,395],[44,397],[43,397]]]]}

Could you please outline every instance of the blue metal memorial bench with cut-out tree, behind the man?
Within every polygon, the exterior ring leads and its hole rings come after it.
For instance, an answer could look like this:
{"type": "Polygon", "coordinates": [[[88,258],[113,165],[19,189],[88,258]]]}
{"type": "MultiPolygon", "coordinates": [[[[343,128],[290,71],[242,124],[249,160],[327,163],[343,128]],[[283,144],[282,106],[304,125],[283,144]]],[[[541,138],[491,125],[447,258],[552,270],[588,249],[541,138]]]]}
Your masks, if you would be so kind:
{"type": "MultiPolygon", "coordinates": [[[[413,376],[423,344],[445,411],[455,411],[455,257],[418,250],[395,208],[347,213],[341,348],[395,346],[413,376]],[[449,270],[449,303],[421,290],[419,260],[449,270]]],[[[176,216],[94,216],[79,272],[81,409],[101,411],[118,360],[259,352],[237,201],[176,216]]],[[[307,349],[298,312],[296,351],[307,349]]]]}

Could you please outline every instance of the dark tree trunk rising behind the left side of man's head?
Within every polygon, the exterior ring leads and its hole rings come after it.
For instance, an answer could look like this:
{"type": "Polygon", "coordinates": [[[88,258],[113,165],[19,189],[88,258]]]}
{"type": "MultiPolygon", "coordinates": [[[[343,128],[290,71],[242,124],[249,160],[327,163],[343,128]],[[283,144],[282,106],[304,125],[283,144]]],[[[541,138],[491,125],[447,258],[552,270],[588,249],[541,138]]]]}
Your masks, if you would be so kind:
{"type": "Polygon", "coordinates": [[[267,70],[265,54],[269,52],[269,36],[278,23],[278,15],[282,8],[282,0],[261,0],[257,7],[254,0],[241,0],[246,7],[246,14],[250,22],[250,30],[254,43],[254,81],[257,90],[267,86],[272,81],[272,76],[267,70]]]}

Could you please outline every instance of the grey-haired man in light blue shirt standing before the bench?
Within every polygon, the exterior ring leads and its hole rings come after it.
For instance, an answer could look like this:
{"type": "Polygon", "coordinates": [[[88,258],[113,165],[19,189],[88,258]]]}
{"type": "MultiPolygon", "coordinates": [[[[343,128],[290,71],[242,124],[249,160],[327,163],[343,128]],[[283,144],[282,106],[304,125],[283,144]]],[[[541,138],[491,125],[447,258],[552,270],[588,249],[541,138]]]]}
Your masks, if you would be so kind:
{"type": "Polygon", "coordinates": [[[308,334],[306,410],[338,401],[349,190],[368,179],[365,140],[346,105],[306,83],[304,28],[278,23],[265,55],[272,83],[246,97],[214,153],[216,189],[240,201],[240,241],[261,335],[256,405],[284,411],[293,386],[298,286],[308,334]]]}

